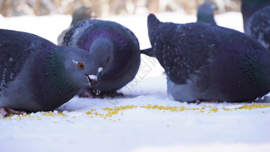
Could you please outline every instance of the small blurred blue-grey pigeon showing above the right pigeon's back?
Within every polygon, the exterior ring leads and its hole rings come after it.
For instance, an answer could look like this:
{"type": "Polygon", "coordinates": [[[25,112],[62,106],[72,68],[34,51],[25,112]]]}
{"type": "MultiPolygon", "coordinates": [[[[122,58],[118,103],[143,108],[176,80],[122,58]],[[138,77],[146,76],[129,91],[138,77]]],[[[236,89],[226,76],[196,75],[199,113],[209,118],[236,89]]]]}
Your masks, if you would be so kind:
{"type": "Polygon", "coordinates": [[[205,1],[198,7],[197,22],[217,25],[214,19],[214,10],[217,10],[217,7],[209,1],[205,1]]]}

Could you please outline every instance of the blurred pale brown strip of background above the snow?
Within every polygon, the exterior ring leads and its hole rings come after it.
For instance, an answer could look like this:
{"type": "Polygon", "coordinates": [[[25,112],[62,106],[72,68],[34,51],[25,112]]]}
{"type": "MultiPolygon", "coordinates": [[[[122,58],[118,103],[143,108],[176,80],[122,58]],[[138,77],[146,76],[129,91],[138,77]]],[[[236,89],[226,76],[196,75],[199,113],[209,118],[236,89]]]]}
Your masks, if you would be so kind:
{"type": "MultiPolygon", "coordinates": [[[[218,7],[216,14],[240,11],[241,0],[210,1],[218,7]]],[[[72,14],[75,9],[86,6],[91,7],[97,17],[182,10],[187,14],[196,14],[198,5],[203,2],[204,0],[0,0],[0,13],[5,17],[72,14]]]]}

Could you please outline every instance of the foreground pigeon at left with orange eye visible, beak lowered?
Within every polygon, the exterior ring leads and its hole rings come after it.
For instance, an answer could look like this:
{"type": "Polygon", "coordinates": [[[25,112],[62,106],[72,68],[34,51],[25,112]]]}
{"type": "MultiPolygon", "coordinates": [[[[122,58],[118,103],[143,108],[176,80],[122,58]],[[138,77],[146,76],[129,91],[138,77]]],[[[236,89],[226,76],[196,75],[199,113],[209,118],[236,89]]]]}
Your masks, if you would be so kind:
{"type": "Polygon", "coordinates": [[[99,94],[92,54],[40,36],[0,29],[0,114],[48,111],[85,85],[99,94]]]}

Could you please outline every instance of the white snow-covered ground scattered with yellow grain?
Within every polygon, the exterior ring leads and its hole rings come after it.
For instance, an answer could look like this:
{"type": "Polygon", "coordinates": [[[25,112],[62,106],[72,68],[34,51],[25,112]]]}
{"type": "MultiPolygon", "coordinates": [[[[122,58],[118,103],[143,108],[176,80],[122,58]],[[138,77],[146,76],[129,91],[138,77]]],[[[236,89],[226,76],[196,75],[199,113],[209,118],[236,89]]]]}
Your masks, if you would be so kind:
{"type": "MultiPolygon", "coordinates": [[[[196,21],[183,12],[157,14],[161,21],[196,21]]],[[[150,47],[147,16],[104,18],[130,28],[140,48],[150,47]]],[[[242,16],[215,16],[217,24],[243,31],[242,16]]],[[[57,44],[70,16],[0,17],[0,28],[26,31],[57,44]]],[[[269,151],[269,97],[258,103],[181,103],[168,97],[157,60],[142,55],[124,98],[74,97],[55,111],[0,118],[0,151],[269,151]]]]}

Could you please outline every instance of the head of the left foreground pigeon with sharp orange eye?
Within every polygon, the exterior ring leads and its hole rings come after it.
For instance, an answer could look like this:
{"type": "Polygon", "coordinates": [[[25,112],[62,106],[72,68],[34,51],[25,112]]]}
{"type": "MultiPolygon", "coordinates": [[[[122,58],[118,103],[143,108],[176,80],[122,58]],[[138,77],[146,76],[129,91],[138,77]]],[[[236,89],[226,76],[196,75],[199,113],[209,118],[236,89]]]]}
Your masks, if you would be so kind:
{"type": "MultiPolygon", "coordinates": [[[[64,47],[64,46],[59,46],[64,47]]],[[[65,47],[63,54],[65,55],[64,66],[67,77],[72,83],[78,86],[89,86],[93,89],[96,95],[100,94],[99,81],[97,79],[98,63],[95,57],[81,49],[65,47]]]]}

